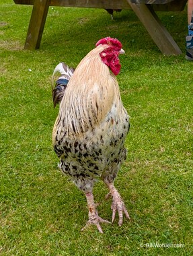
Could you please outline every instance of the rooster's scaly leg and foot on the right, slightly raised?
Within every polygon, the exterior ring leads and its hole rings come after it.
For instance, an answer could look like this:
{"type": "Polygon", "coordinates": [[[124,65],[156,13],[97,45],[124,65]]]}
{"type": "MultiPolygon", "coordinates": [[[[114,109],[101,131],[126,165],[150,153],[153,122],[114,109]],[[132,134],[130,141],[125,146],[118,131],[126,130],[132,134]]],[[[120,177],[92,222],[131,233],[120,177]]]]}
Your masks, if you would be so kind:
{"type": "Polygon", "coordinates": [[[114,187],[113,183],[106,183],[106,185],[108,186],[108,189],[110,190],[110,193],[108,193],[108,195],[106,196],[106,199],[108,197],[110,197],[110,195],[112,196],[112,222],[114,222],[114,218],[116,215],[116,212],[118,212],[118,224],[119,226],[122,225],[122,220],[123,220],[123,214],[126,216],[126,218],[128,218],[130,220],[130,217],[128,215],[128,212],[126,210],[126,207],[124,205],[124,201],[122,200],[120,193],[118,193],[117,189],[114,187]]]}

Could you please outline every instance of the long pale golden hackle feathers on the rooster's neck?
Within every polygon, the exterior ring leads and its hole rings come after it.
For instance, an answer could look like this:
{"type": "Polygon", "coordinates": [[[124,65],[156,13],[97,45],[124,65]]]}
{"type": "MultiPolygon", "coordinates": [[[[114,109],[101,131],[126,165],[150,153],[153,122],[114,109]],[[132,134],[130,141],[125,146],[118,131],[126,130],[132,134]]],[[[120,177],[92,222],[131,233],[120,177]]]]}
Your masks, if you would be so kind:
{"type": "Polygon", "coordinates": [[[59,127],[63,120],[69,136],[81,136],[87,129],[93,129],[114,102],[117,107],[120,105],[116,77],[100,58],[107,47],[100,45],[82,59],[65,90],[56,125],[59,127]]]}

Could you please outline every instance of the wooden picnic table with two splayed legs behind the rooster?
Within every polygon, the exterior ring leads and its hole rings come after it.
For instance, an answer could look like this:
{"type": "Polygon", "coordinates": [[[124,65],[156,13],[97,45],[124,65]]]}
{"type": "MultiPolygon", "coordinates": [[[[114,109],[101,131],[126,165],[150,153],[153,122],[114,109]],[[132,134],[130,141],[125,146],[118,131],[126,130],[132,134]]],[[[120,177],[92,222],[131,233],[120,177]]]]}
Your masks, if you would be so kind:
{"type": "Polygon", "coordinates": [[[164,55],[180,55],[178,44],[159,20],[155,11],[182,11],[187,0],[13,0],[34,5],[24,49],[40,48],[49,6],[132,9],[164,55]]]}

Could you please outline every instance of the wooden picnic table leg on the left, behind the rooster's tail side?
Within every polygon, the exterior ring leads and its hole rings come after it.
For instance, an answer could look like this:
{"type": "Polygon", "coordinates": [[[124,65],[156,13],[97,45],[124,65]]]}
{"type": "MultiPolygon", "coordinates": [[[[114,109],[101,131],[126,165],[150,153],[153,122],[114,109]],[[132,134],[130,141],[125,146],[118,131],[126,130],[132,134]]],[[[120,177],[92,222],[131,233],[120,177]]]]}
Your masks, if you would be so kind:
{"type": "Polygon", "coordinates": [[[34,0],[34,7],[32,10],[24,49],[33,50],[40,48],[49,5],[50,0],[34,0]]]}

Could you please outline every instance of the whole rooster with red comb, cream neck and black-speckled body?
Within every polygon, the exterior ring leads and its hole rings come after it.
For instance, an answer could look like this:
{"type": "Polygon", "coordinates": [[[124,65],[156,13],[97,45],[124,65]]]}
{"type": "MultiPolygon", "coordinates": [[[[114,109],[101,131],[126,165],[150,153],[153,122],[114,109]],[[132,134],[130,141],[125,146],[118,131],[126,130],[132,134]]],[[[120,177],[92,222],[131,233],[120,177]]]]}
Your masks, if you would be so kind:
{"type": "Polygon", "coordinates": [[[122,101],[116,75],[120,72],[119,54],[124,53],[116,38],[102,38],[72,69],[60,63],[54,69],[61,77],[52,91],[54,106],[60,102],[54,123],[52,141],[60,158],[59,167],[85,194],[88,221],[102,233],[102,219],[93,199],[93,185],[102,180],[112,197],[112,222],[118,212],[130,218],[114,179],[126,159],[124,140],[129,130],[129,117],[122,101]]]}

